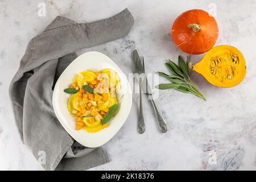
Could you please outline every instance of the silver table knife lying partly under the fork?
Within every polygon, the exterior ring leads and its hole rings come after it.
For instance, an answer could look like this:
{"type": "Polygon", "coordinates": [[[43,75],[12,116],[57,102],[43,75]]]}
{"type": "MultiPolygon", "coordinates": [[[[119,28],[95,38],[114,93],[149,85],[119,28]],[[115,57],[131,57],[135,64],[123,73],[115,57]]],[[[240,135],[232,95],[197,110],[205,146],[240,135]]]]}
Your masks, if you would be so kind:
{"type": "MultiPolygon", "coordinates": [[[[138,54],[138,51],[135,49],[133,51],[133,60],[136,61],[137,58],[139,58],[139,54],[138,54]]],[[[150,100],[150,103],[151,103],[152,107],[154,108],[154,111],[156,114],[156,119],[158,121],[158,126],[159,126],[160,130],[163,133],[165,133],[168,130],[166,121],[164,120],[163,115],[159,110],[158,104],[156,104],[152,89],[150,88],[150,85],[148,84],[147,77],[144,80],[146,80],[146,94],[148,95],[148,99],[150,100]]]]}

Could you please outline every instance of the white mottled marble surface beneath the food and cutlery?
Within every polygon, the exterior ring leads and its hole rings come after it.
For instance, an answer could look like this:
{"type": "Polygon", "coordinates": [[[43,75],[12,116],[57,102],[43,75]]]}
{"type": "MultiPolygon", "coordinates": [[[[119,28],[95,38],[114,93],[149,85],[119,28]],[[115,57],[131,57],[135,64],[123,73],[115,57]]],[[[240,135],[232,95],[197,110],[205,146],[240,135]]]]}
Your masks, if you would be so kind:
{"type": "MultiPolygon", "coordinates": [[[[147,72],[152,73],[167,71],[164,60],[185,56],[170,38],[170,27],[176,16],[188,9],[211,11],[214,6],[220,28],[217,44],[230,44],[243,52],[247,64],[245,80],[234,88],[221,89],[193,74],[193,80],[208,98],[206,102],[175,90],[161,91],[158,102],[169,125],[165,134],[159,132],[146,100],[146,132],[138,134],[138,95],[134,94],[125,125],[105,144],[112,161],[93,169],[255,170],[256,2],[252,0],[0,0],[0,169],[42,169],[19,139],[7,91],[29,40],[40,34],[55,16],[92,22],[128,7],[135,19],[129,36],[91,50],[105,53],[125,73],[130,73],[133,71],[131,51],[137,48],[147,61],[147,72]],[[46,5],[45,17],[38,16],[41,2],[46,5]],[[212,154],[216,155],[216,164],[209,163],[209,159],[214,159],[212,154]]],[[[202,56],[192,56],[192,60],[200,60],[202,56]]]]}

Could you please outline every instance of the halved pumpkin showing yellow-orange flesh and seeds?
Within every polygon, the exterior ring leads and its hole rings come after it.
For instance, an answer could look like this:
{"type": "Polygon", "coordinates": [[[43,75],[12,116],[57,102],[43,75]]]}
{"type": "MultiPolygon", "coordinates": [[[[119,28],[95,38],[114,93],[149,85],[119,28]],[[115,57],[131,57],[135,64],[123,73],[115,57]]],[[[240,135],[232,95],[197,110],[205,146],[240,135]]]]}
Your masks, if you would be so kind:
{"type": "Polygon", "coordinates": [[[210,84],[222,88],[240,84],[246,75],[246,63],[242,53],[233,46],[216,46],[203,59],[192,65],[210,84]]]}

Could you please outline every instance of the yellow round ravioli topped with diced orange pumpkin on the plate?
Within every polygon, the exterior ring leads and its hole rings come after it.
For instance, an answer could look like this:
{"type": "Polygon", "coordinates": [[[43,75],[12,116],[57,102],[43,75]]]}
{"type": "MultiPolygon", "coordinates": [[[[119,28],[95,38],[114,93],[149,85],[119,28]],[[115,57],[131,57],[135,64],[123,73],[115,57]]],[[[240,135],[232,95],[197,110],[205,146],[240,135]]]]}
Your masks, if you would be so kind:
{"type": "Polygon", "coordinates": [[[84,129],[89,133],[96,133],[108,123],[101,125],[102,119],[108,113],[109,107],[118,104],[117,90],[120,79],[115,71],[106,68],[101,71],[87,70],[78,73],[70,88],[79,90],[68,100],[68,111],[76,118],[76,129],[84,129]],[[93,93],[83,89],[88,85],[93,93]]]}

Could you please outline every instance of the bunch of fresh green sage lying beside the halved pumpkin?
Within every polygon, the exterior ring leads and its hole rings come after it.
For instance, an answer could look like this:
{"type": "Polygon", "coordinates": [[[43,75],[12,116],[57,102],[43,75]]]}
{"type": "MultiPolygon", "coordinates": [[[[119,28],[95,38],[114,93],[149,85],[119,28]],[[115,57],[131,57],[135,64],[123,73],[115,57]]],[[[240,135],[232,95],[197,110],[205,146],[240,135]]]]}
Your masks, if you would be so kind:
{"type": "Polygon", "coordinates": [[[171,84],[159,84],[155,88],[158,89],[175,89],[183,93],[192,93],[197,97],[203,98],[206,101],[204,95],[199,91],[196,85],[192,82],[189,77],[189,56],[187,57],[187,63],[181,56],[178,59],[178,65],[174,61],[168,60],[166,63],[167,68],[170,70],[172,75],[167,75],[163,72],[158,72],[160,76],[167,78],[171,81],[171,84]]]}

